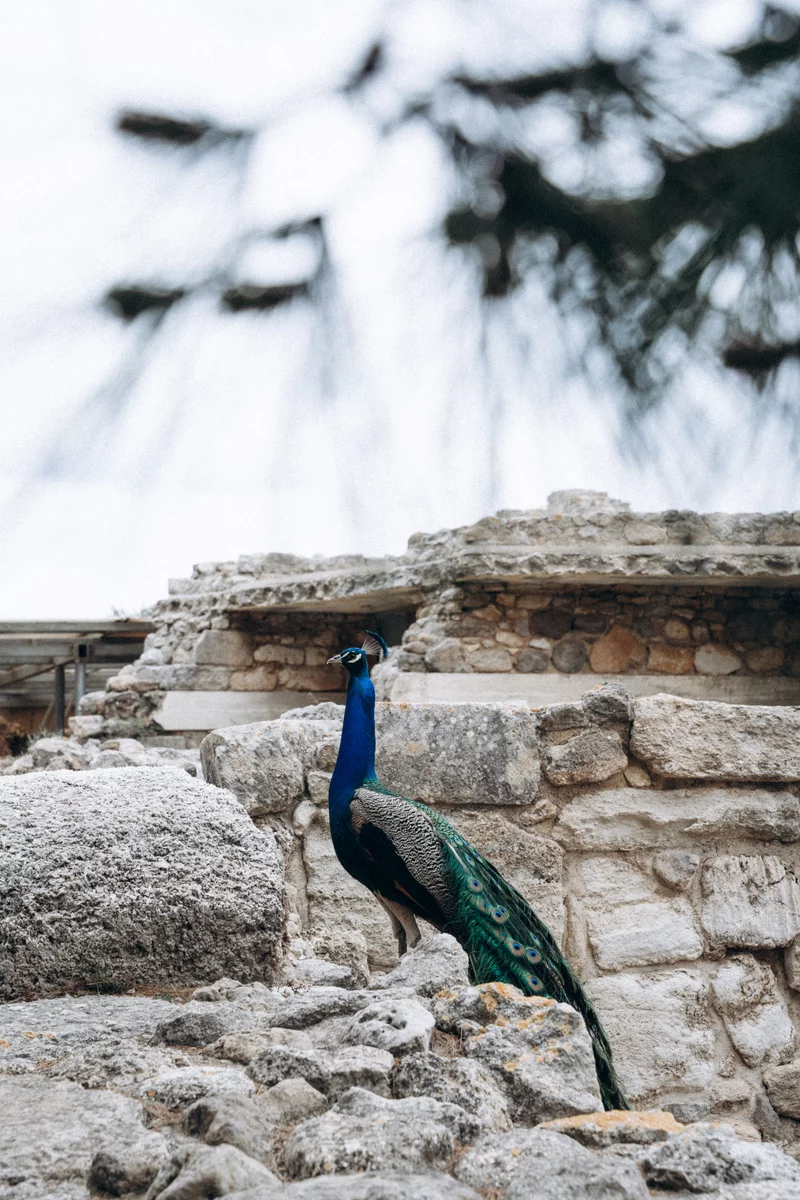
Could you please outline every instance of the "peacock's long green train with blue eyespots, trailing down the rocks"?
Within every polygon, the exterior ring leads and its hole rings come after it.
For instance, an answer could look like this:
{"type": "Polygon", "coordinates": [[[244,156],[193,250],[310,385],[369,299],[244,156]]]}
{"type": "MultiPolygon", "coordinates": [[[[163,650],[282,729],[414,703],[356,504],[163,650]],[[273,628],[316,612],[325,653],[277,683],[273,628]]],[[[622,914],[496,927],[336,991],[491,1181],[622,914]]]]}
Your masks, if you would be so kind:
{"type": "MultiPolygon", "coordinates": [[[[428,810],[431,812],[431,810],[428,810]]],[[[459,930],[475,983],[509,983],[527,996],[548,996],[583,1016],[606,1109],[628,1109],[608,1038],[579,980],[543,924],[500,872],[438,814],[431,814],[449,851],[459,930]]]]}

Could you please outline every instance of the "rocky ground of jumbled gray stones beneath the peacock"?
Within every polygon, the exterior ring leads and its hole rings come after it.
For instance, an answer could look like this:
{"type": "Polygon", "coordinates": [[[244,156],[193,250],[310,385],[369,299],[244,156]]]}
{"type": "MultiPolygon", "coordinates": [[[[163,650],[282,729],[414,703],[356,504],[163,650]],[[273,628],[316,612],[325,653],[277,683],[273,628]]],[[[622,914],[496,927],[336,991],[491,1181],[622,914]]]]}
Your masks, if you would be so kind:
{"type": "Polygon", "coordinates": [[[577,1014],[470,986],[445,935],[372,979],[351,935],[295,942],[284,978],[2,1006],[0,1196],[800,1198],[752,1129],[599,1111],[577,1014]]]}

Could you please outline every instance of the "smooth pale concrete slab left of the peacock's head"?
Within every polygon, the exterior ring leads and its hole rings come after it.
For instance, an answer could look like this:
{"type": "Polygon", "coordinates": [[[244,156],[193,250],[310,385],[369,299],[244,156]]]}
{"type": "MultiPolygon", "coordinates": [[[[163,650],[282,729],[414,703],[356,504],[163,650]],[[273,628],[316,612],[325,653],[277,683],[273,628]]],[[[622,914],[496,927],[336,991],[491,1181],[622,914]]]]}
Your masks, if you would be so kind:
{"type": "Polygon", "coordinates": [[[289,708],[344,703],[343,691],[168,691],[154,719],[162,730],[221,730],[272,721],[289,708]]]}

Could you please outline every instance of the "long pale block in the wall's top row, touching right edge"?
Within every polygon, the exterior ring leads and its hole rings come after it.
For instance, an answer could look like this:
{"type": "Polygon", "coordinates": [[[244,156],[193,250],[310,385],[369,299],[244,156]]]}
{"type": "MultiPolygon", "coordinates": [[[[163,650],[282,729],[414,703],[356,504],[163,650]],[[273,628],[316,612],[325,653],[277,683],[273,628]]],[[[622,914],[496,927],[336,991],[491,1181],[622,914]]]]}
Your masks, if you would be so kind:
{"type": "Polygon", "coordinates": [[[633,706],[631,751],[667,779],[796,780],[800,708],[645,696],[633,706]]]}

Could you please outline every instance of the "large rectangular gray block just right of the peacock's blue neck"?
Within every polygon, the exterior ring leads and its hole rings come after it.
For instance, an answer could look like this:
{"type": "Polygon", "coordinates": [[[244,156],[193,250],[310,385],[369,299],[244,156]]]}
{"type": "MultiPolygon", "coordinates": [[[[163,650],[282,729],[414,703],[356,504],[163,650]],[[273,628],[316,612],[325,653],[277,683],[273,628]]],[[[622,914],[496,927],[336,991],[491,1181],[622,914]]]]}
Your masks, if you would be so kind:
{"type": "MultiPolygon", "coordinates": [[[[504,652],[505,653],[505,652],[504,652]]],[[[530,804],[536,718],[527,704],[378,704],[378,778],[428,804],[530,804]]]]}

